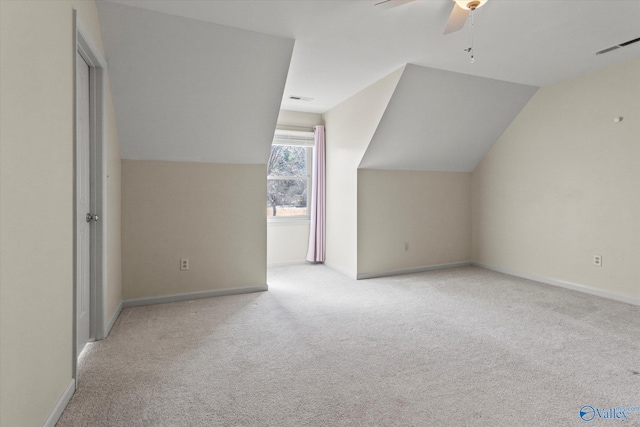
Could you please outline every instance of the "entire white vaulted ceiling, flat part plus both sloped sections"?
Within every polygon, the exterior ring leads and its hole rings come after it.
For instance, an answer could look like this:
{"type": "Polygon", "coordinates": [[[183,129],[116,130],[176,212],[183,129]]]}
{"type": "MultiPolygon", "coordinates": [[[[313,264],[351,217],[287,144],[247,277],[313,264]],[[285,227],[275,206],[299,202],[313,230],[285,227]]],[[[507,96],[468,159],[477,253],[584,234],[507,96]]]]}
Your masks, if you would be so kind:
{"type": "Polygon", "coordinates": [[[537,87],[640,56],[640,1],[98,0],[123,158],[266,163],[279,109],[323,113],[405,64],[360,167],[470,171],[537,87]],[[296,101],[290,96],[312,98],[296,101]]]}

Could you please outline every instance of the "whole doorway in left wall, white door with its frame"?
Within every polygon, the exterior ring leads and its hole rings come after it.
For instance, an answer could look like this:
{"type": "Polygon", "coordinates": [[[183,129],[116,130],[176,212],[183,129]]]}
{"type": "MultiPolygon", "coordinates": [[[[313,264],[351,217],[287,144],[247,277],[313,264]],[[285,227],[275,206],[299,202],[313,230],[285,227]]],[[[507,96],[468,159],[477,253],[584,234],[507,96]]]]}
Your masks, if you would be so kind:
{"type": "Polygon", "coordinates": [[[73,377],[87,342],[102,339],[106,277],[106,156],[103,112],[106,63],[77,20],[74,114],[73,377]]]}

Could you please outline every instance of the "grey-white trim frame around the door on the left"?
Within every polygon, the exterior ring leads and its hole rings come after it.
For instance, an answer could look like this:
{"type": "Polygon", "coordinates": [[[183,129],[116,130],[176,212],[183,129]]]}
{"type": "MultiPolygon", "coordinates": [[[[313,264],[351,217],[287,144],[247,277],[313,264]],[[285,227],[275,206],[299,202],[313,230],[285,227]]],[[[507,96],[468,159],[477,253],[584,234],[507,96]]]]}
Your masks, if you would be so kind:
{"type": "MultiPolygon", "coordinates": [[[[78,278],[78,250],[76,245],[76,152],[77,152],[77,76],[76,76],[76,52],[89,65],[89,126],[90,126],[90,180],[91,180],[91,212],[97,214],[100,220],[95,222],[91,230],[91,283],[90,283],[90,337],[103,339],[105,333],[105,304],[106,304],[106,159],[104,144],[104,113],[105,113],[105,82],[106,82],[106,61],[102,57],[100,50],[96,47],[89,32],[85,30],[78,20],[77,11],[73,10],[74,28],[74,52],[73,52],[73,378],[77,377],[77,289],[78,278]]],[[[82,213],[81,215],[85,215],[82,213]]]]}

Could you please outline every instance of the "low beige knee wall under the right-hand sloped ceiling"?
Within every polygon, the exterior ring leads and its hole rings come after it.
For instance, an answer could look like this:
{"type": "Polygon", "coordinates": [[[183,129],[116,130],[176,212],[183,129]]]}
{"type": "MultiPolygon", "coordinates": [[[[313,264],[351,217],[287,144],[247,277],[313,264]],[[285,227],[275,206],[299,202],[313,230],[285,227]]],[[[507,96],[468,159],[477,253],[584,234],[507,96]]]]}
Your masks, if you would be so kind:
{"type": "Polygon", "coordinates": [[[470,173],[358,171],[358,275],[470,260],[470,173]]]}

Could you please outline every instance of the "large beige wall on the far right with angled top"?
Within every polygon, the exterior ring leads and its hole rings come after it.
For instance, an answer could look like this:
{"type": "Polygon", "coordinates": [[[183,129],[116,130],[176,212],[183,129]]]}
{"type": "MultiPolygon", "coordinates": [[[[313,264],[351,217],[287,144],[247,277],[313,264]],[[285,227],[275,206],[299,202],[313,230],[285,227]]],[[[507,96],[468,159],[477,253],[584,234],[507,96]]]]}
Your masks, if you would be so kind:
{"type": "Polygon", "coordinates": [[[640,297],[639,75],[538,91],[473,173],[475,261],[640,297]]]}

